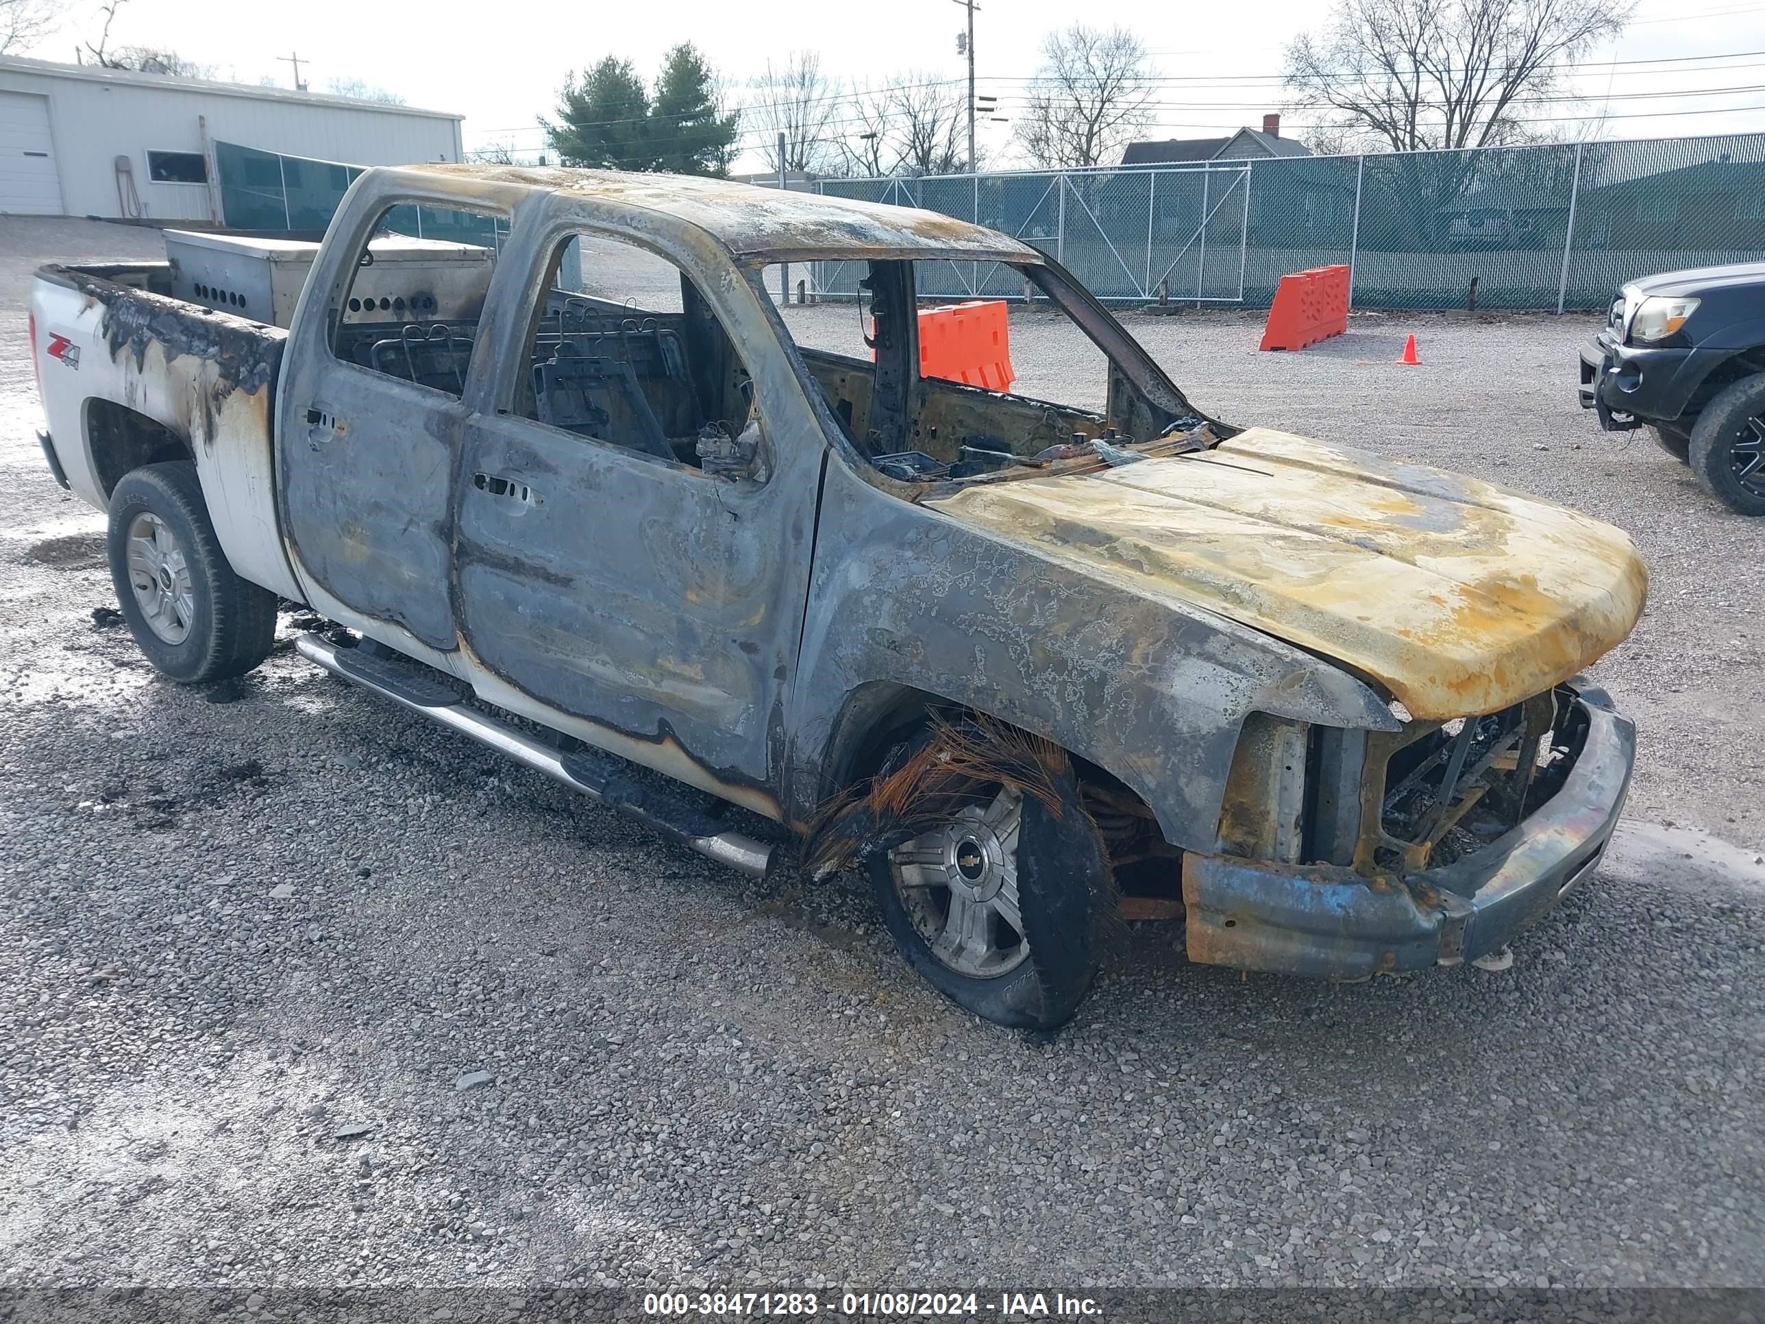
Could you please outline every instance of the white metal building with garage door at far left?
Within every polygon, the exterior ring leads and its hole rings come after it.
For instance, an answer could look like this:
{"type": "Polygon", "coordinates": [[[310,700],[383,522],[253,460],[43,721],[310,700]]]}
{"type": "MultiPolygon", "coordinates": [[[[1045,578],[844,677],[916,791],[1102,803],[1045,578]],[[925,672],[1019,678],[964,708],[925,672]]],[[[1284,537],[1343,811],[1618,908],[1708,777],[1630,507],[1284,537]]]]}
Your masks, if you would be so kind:
{"type": "Polygon", "coordinates": [[[214,143],[404,166],[459,161],[459,115],[0,56],[0,214],[219,221],[214,143]]]}

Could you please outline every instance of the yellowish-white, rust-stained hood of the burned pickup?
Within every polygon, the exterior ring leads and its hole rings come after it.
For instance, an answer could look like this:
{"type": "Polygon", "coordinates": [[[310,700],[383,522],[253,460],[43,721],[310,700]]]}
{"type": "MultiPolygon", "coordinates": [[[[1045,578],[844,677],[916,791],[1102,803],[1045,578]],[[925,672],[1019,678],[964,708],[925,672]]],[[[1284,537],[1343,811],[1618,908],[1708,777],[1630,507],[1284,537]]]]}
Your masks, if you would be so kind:
{"type": "Polygon", "coordinates": [[[1649,586],[1610,524],[1262,427],[1197,459],[927,505],[1333,657],[1428,718],[1490,713],[1567,680],[1631,632],[1649,586]]]}

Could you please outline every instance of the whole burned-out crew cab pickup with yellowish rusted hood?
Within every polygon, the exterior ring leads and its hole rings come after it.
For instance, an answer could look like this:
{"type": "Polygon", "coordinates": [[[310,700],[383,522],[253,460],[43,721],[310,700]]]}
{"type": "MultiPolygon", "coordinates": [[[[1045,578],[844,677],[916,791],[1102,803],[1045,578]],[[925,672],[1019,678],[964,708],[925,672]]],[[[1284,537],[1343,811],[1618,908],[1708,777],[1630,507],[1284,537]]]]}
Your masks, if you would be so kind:
{"type": "Polygon", "coordinates": [[[1643,607],[1622,533],[1213,418],[1006,235],[424,166],[297,256],[298,295],[196,252],[35,281],[49,464],[173,680],[307,604],[309,660],[702,854],[860,863],[1013,1026],[1073,1013],[1123,909],[1239,969],[1453,966],[1611,835],[1633,729],[1580,673],[1643,607]],[[653,300],[582,293],[620,252],[653,300]],[[845,272],[868,350],[800,346],[771,263],[845,272]],[[921,374],[951,263],[1077,323],[1103,408],[921,374]]]}

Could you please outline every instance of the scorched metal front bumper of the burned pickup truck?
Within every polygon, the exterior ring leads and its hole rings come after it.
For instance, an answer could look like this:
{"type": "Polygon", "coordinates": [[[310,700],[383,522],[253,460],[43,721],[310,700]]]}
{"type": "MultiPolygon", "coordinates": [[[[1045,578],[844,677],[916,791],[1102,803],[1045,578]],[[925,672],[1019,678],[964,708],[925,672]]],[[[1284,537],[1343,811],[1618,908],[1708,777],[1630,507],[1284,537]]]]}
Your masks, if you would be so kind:
{"type": "Polygon", "coordinates": [[[1576,703],[1587,736],[1557,794],[1451,865],[1400,879],[1334,865],[1184,856],[1190,960],[1359,980],[1500,950],[1592,874],[1624,809],[1636,727],[1604,706],[1599,690],[1576,703]]]}

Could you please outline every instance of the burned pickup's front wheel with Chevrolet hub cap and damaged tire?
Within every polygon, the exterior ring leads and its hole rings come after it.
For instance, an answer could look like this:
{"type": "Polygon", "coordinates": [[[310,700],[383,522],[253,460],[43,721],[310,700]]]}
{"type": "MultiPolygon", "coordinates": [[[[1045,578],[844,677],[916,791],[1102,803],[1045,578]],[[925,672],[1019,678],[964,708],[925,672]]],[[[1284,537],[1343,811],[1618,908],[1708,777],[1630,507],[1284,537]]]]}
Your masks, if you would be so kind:
{"type": "Polygon", "coordinates": [[[943,821],[868,860],[907,964],[958,1006],[1018,1029],[1071,1019],[1115,913],[1108,853],[1071,770],[1052,786],[1055,807],[976,782],[943,821]]]}

